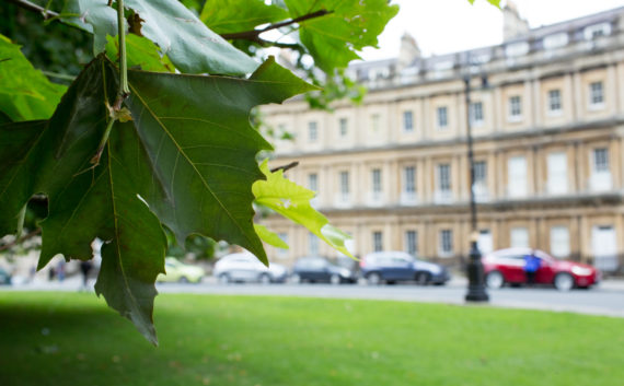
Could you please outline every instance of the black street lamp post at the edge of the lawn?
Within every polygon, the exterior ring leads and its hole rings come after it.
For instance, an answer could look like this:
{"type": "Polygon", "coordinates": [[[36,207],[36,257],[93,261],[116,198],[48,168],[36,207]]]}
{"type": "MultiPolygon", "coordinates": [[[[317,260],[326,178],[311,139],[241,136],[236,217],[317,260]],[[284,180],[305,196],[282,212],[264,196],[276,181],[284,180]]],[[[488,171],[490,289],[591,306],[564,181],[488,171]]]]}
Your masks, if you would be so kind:
{"type": "MultiPolygon", "coordinates": [[[[465,84],[465,103],[466,103],[466,124],[467,124],[467,155],[470,165],[470,220],[471,220],[471,237],[470,254],[467,264],[469,288],[465,295],[466,302],[488,302],[489,296],[485,291],[485,274],[483,262],[481,261],[481,252],[478,250],[478,230],[476,227],[476,201],[474,197],[474,154],[472,141],[472,119],[471,119],[471,100],[470,100],[470,73],[464,77],[465,84]]],[[[483,78],[484,85],[486,78],[483,78]]]]}

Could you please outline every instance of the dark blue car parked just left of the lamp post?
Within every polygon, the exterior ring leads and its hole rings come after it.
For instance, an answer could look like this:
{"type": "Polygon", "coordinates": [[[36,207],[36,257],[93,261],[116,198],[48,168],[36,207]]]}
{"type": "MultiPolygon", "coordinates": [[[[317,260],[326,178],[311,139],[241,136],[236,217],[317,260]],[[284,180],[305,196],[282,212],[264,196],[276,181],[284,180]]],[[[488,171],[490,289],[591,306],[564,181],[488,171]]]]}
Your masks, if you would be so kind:
{"type": "Polygon", "coordinates": [[[451,279],[446,267],[416,259],[405,252],[368,254],[361,259],[360,269],[369,284],[416,281],[421,285],[441,285],[451,279]]]}

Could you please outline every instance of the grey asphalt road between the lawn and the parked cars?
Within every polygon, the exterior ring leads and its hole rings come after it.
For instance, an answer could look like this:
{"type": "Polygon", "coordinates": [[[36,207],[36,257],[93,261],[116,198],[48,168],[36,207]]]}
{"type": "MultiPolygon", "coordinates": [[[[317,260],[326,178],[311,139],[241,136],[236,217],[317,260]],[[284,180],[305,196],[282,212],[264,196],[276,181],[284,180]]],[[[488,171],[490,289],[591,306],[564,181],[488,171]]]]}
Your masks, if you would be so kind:
{"type": "MultiPolygon", "coordinates": [[[[78,278],[63,283],[39,281],[31,284],[4,286],[7,291],[76,291],[78,278]]],[[[91,282],[93,284],[93,282],[91,282]]],[[[208,278],[200,284],[158,284],[161,293],[203,293],[215,295],[269,295],[332,299],[368,299],[402,302],[465,304],[465,279],[453,279],[444,286],[412,284],[218,284],[208,278]]],[[[502,288],[488,290],[487,306],[574,312],[590,315],[624,317],[624,281],[604,281],[590,290],[559,292],[552,288],[502,288]]]]}

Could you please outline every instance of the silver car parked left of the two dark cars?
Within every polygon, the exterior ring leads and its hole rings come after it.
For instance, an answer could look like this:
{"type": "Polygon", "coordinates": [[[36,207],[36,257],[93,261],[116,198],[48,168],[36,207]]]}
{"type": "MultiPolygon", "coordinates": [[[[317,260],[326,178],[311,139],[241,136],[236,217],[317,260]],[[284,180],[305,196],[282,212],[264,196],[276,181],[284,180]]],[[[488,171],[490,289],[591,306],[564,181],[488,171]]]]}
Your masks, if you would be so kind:
{"type": "Polygon", "coordinates": [[[266,268],[249,252],[223,256],[217,261],[212,272],[221,283],[281,283],[286,281],[288,276],[286,267],[271,262],[269,264],[269,268],[266,268]]]}

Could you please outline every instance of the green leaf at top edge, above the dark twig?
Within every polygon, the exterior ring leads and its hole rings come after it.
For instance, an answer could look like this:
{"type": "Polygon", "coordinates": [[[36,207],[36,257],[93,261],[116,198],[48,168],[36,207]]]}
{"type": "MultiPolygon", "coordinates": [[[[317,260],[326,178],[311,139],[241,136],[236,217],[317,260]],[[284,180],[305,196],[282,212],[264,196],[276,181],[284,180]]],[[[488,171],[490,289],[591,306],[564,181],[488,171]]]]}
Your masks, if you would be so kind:
{"type": "Polygon", "coordinates": [[[208,0],[199,19],[216,33],[227,34],[288,19],[288,12],[264,0],[208,0]]]}

